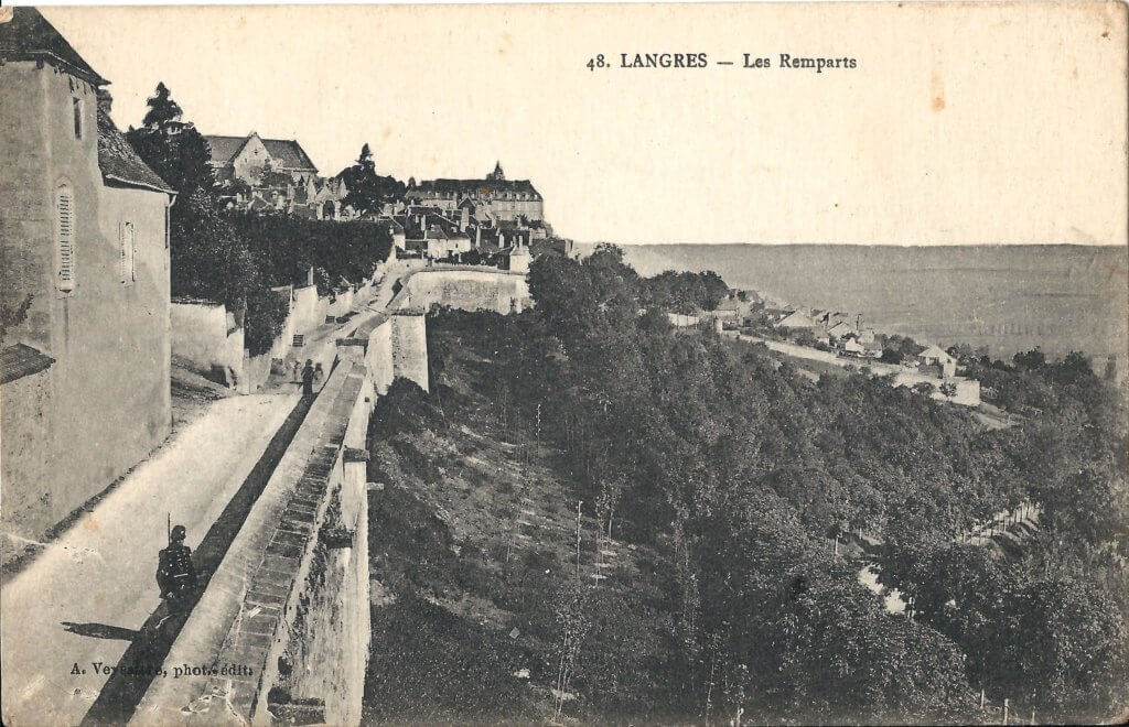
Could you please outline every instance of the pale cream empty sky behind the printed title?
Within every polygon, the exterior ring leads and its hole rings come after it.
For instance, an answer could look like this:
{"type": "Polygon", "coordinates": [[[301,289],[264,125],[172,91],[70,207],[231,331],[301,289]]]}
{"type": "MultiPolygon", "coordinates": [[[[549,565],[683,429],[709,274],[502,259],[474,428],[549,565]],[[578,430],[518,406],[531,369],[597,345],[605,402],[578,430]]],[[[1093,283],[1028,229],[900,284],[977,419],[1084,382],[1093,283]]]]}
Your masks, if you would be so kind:
{"type": "Polygon", "coordinates": [[[1127,239],[1123,5],[42,11],[122,128],[164,81],[203,133],[297,139],[325,175],[365,142],[405,180],[500,160],[578,241],[1127,239]],[[619,68],[663,52],[710,64],[619,68]]]}

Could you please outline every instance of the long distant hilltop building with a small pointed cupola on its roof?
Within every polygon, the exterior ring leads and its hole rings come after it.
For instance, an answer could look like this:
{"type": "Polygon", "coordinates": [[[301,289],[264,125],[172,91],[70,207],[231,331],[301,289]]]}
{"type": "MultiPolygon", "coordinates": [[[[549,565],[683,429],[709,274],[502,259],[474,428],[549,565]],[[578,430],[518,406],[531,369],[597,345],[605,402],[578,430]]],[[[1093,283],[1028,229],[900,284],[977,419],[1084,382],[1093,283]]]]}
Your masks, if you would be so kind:
{"type": "Polygon", "coordinates": [[[545,219],[544,200],[528,179],[507,179],[501,162],[482,179],[426,179],[409,181],[404,193],[408,205],[438,207],[444,213],[455,213],[466,206],[471,216],[488,220],[527,222],[545,219]]]}

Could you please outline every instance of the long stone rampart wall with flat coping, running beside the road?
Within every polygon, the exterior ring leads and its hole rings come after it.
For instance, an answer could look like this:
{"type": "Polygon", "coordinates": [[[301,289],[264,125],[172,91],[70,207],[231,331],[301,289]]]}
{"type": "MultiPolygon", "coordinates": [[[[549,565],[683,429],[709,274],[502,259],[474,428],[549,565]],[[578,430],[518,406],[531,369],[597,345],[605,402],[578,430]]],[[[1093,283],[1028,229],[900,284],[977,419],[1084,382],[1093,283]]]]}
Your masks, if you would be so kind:
{"type": "MultiPolygon", "coordinates": [[[[485,276],[437,277],[415,291],[432,303],[508,312],[524,280],[485,276]]],[[[336,363],[324,388],[165,658],[251,672],[155,680],[134,724],[360,722],[371,613],[368,423],[395,376],[429,388],[427,318],[408,307],[409,285],[401,293],[391,314],[362,311],[330,342],[336,363]]]]}

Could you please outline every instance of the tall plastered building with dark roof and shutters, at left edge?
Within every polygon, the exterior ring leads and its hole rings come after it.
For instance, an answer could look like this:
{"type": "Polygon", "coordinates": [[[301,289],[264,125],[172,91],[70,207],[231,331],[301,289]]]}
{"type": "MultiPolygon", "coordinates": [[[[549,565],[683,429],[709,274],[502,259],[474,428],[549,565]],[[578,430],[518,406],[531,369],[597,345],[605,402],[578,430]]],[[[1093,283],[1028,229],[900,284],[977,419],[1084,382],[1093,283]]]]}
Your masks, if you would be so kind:
{"type": "Polygon", "coordinates": [[[36,538],[169,432],[175,193],[34,8],[0,24],[3,529],[36,538]]]}

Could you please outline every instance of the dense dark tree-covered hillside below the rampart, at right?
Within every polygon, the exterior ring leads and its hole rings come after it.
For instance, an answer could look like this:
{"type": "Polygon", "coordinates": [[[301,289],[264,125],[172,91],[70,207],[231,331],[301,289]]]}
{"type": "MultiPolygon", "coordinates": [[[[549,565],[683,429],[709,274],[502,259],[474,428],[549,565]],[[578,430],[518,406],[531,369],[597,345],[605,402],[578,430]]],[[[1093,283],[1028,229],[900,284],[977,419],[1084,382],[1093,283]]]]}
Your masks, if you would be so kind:
{"type": "MultiPolygon", "coordinates": [[[[641,591],[667,588],[663,608],[620,629],[665,645],[632,665],[663,685],[651,718],[998,721],[1008,699],[1025,719],[1089,721],[1124,708],[1123,391],[1052,376],[1054,406],[987,431],[881,378],[813,382],[762,347],[673,329],[615,248],[539,258],[530,284],[536,308],[520,316],[429,321],[432,426],[460,425],[443,371],[457,335],[489,358],[476,385],[502,429],[557,453],[605,538],[664,553],[638,575],[641,591]],[[1043,514],[1023,539],[965,542],[1024,502],[1043,514]],[[859,584],[866,564],[903,614],[859,584]]],[[[586,698],[561,711],[594,721],[613,717],[584,665],[616,653],[584,637],[611,618],[601,587],[576,587],[560,617],[574,647],[561,668],[586,698]]]]}

